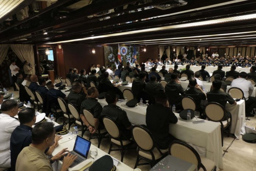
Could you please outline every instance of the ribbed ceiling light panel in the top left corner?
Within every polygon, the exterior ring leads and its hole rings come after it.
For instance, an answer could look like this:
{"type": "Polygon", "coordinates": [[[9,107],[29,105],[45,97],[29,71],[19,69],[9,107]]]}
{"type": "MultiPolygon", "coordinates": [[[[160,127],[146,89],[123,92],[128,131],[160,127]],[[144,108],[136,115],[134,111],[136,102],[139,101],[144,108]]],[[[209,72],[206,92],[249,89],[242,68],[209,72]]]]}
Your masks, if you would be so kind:
{"type": "Polygon", "coordinates": [[[0,18],[4,15],[10,13],[14,8],[16,8],[24,0],[1,0],[0,3],[0,18]]]}

